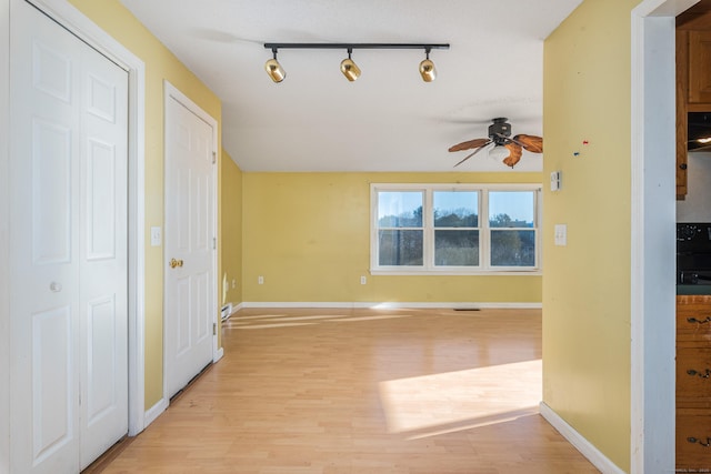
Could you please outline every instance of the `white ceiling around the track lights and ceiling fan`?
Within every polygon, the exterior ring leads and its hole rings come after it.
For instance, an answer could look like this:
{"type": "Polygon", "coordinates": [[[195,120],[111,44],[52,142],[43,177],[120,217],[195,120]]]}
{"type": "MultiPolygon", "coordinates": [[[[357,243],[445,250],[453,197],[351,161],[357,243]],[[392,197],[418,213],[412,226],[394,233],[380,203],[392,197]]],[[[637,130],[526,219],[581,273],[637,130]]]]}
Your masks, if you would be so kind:
{"type": "MultiPolygon", "coordinates": [[[[243,171],[509,171],[447,149],[494,117],[542,134],[543,40],[582,0],[121,0],[222,101],[222,144],[243,171]],[[280,50],[264,42],[450,43],[433,50],[280,50]]],[[[539,171],[523,153],[515,171],[539,171]]]]}

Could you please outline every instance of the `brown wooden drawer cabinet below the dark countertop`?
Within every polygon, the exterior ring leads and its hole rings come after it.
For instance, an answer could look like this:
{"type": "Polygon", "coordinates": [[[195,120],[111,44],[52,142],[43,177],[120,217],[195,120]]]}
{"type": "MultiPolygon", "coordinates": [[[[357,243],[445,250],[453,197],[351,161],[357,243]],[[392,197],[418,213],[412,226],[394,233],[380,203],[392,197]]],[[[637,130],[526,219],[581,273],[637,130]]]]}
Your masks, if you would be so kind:
{"type": "Polygon", "coordinates": [[[677,470],[711,468],[711,295],[677,296],[677,470]]]}

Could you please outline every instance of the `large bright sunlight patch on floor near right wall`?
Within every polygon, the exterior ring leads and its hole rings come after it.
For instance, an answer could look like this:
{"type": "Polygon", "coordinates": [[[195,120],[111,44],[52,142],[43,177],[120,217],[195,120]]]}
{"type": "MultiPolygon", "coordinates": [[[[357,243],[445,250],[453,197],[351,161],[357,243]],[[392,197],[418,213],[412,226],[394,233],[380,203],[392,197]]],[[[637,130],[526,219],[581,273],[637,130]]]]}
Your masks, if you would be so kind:
{"type": "Polygon", "coordinates": [[[422,437],[538,413],[541,370],[533,360],[381,382],[388,430],[422,437]]]}

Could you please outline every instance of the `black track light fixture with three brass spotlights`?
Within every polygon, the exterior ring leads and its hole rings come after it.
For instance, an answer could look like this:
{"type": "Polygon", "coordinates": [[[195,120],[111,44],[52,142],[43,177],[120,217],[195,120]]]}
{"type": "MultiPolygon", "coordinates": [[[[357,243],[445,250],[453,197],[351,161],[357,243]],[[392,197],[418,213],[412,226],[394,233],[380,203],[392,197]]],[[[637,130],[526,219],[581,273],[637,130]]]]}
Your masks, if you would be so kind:
{"type": "Polygon", "coordinates": [[[432,82],[437,78],[434,63],[430,60],[430,52],[433,49],[449,49],[449,43],[264,43],[264,48],[271,49],[273,59],[267,61],[264,69],[274,82],[281,82],[287,73],[277,61],[277,51],[281,49],[344,49],[348,58],[341,61],[341,72],[349,81],[354,81],[360,77],[360,68],[351,59],[354,49],[423,49],[425,59],[420,62],[420,75],[424,82],[432,82]]]}

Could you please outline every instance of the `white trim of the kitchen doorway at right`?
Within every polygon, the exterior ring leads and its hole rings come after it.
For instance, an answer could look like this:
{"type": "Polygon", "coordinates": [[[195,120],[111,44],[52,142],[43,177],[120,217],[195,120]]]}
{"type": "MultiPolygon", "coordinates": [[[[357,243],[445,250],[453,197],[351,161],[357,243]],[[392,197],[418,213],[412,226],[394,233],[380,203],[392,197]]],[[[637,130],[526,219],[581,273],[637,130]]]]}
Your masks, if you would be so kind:
{"type": "Polygon", "coordinates": [[[674,17],[699,0],[643,0],[631,24],[632,474],[674,472],[674,17]]]}

